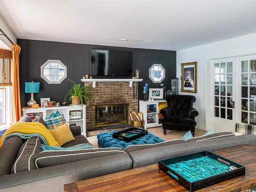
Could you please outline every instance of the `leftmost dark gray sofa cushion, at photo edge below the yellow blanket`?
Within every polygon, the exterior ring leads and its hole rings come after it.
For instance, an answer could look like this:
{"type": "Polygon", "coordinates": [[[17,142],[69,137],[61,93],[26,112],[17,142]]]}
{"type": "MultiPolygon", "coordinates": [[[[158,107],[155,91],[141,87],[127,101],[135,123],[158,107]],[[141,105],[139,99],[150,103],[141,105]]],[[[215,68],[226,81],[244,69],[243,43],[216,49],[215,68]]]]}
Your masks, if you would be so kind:
{"type": "Polygon", "coordinates": [[[9,137],[0,147],[0,176],[10,174],[23,140],[17,136],[9,137]]]}

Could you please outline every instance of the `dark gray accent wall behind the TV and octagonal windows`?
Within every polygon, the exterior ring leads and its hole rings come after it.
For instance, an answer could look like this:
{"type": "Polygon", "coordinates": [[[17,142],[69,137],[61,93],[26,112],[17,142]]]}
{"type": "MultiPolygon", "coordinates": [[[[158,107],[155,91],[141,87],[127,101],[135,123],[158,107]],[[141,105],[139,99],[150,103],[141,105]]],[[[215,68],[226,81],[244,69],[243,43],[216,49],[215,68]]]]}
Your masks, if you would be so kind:
{"type": "Polygon", "coordinates": [[[90,74],[91,49],[129,50],[134,53],[133,73],[140,70],[139,99],[143,98],[143,85],[148,83],[150,88],[159,88],[161,83],[153,83],[148,77],[148,70],[154,63],[160,63],[165,69],[164,84],[169,84],[170,78],[176,77],[176,51],[135,49],[124,47],[110,47],[100,45],[71,44],[66,42],[17,39],[22,48],[20,52],[20,101],[22,106],[27,105],[30,94],[25,93],[25,82],[40,82],[40,93],[34,94],[37,103],[40,98],[50,97],[55,101],[63,101],[72,87],[68,79],[76,83],[81,82],[82,76],[90,74]],[[40,66],[48,59],[58,59],[67,67],[67,78],[60,84],[48,84],[40,77],[40,66]]]}

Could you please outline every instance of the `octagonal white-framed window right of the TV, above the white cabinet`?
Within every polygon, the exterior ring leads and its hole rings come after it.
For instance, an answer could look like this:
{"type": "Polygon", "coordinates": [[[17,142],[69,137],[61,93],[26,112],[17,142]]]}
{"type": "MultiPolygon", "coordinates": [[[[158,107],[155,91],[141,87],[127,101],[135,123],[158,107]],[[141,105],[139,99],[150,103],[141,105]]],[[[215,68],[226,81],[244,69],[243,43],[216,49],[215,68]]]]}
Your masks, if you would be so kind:
{"type": "Polygon", "coordinates": [[[154,64],[150,68],[149,76],[153,82],[162,82],[165,77],[165,70],[163,66],[160,64],[154,64]]]}

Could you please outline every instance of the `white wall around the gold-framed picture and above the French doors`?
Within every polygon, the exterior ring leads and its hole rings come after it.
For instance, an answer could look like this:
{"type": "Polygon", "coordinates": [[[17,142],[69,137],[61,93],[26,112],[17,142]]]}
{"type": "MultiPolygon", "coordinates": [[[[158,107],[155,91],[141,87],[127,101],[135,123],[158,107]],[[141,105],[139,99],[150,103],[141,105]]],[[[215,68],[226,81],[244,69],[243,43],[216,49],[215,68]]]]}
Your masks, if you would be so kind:
{"type": "Polygon", "coordinates": [[[181,63],[197,61],[197,93],[181,94],[196,97],[194,107],[199,112],[199,116],[196,118],[199,129],[207,130],[208,128],[205,127],[204,96],[207,85],[205,80],[206,59],[224,57],[225,55],[241,55],[245,52],[256,53],[256,33],[177,51],[177,78],[180,79],[181,76],[181,63]]]}

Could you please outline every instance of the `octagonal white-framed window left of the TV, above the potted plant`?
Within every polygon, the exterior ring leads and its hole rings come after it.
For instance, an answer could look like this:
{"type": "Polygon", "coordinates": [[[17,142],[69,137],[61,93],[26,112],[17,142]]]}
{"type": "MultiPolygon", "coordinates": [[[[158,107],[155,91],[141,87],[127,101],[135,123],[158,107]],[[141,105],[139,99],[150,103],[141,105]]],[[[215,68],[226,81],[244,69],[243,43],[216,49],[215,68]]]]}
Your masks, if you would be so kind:
{"type": "Polygon", "coordinates": [[[60,60],[48,60],[41,66],[41,78],[58,84],[67,77],[67,67],[60,60]]]}

